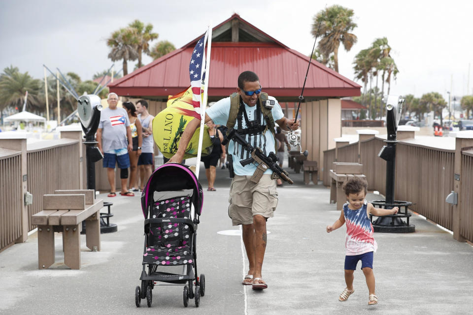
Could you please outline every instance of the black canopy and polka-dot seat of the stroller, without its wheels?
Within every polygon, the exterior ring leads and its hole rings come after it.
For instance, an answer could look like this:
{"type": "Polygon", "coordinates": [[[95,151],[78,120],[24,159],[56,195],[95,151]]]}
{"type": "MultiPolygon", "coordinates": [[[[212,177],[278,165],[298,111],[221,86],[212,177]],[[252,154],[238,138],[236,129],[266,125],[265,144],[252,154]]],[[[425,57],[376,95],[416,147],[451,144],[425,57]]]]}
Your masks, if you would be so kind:
{"type": "Polygon", "coordinates": [[[202,207],[202,186],[187,166],[158,167],[141,194],[146,233],[143,264],[195,265],[195,233],[202,207]]]}

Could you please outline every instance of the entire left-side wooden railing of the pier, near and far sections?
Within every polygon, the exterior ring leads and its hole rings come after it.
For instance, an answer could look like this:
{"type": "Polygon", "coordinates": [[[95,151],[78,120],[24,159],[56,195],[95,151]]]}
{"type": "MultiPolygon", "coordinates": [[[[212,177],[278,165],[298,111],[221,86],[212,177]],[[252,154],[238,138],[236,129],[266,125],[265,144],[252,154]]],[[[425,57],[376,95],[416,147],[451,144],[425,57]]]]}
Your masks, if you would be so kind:
{"type": "MultiPolygon", "coordinates": [[[[79,136],[80,136],[79,132],[79,136]]],[[[20,133],[0,137],[0,251],[25,242],[36,226],[44,194],[80,189],[82,144],[77,139],[36,140],[20,133]],[[33,203],[26,205],[26,195],[33,203]]]]}

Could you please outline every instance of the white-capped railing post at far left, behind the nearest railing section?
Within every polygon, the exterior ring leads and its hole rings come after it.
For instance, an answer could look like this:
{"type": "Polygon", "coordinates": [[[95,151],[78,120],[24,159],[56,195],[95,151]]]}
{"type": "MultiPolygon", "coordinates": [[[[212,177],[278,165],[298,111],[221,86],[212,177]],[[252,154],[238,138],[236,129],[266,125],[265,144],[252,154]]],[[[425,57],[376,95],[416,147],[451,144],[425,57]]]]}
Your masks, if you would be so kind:
{"type": "Polygon", "coordinates": [[[28,191],[28,163],[26,139],[31,137],[31,132],[6,131],[0,133],[0,148],[21,151],[21,236],[15,240],[15,243],[23,243],[28,240],[29,218],[28,207],[25,205],[25,194],[28,191]]]}

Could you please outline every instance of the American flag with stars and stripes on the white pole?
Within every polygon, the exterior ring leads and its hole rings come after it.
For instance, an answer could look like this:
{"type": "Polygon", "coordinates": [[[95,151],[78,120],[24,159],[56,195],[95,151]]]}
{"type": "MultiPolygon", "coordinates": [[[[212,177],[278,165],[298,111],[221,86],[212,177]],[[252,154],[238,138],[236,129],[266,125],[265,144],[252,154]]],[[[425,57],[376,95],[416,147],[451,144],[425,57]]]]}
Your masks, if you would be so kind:
{"type": "Polygon", "coordinates": [[[191,62],[189,63],[189,77],[191,79],[191,88],[192,88],[192,105],[195,108],[195,111],[199,114],[197,118],[200,117],[201,113],[201,95],[202,95],[202,80],[205,78],[205,72],[202,74],[202,69],[205,69],[205,37],[206,33],[202,38],[197,42],[194,51],[192,52],[191,62]]]}

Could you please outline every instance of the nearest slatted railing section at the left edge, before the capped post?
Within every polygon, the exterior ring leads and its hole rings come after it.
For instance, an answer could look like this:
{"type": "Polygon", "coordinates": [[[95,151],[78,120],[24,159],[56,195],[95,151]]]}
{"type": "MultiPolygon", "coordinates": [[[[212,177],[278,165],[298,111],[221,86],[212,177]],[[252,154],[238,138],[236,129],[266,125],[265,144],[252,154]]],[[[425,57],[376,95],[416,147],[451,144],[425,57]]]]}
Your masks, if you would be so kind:
{"type": "Polygon", "coordinates": [[[21,152],[0,149],[0,251],[22,235],[21,152]]]}

